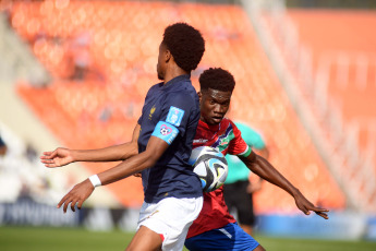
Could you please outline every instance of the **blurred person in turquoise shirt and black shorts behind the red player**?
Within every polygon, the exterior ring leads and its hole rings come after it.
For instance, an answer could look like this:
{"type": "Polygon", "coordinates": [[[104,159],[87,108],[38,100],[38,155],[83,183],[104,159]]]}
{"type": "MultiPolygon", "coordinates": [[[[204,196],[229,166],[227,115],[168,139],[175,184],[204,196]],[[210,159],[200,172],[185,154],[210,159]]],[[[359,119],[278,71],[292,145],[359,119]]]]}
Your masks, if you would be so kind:
{"type": "MultiPolygon", "coordinates": [[[[245,143],[264,158],[268,158],[269,152],[259,133],[248,125],[235,122],[242,133],[245,143]]],[[[253,193],[262,188],[262,178],[250,182],[250,169],[236,156],[226,155],[229,164],[229,174],[225,182],[223,195],[229,211],[236,211],[238,222],[245,232],[252,235],[256,216],[253,210],[253,193]]]]}

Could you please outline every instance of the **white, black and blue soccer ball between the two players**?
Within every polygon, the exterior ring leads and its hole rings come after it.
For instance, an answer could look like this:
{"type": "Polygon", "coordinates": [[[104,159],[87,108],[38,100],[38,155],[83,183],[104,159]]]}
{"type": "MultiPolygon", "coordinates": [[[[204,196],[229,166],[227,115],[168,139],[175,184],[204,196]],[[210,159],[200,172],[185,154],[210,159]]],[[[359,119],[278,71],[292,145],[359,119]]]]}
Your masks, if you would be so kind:
{"type": "Polygon", "coordinates": [[[193,166],[193,171],[201,179],[204,192],[220,188],[229,172],[223,154],[210,146],[194,148],[189,164],[193,166]]]}

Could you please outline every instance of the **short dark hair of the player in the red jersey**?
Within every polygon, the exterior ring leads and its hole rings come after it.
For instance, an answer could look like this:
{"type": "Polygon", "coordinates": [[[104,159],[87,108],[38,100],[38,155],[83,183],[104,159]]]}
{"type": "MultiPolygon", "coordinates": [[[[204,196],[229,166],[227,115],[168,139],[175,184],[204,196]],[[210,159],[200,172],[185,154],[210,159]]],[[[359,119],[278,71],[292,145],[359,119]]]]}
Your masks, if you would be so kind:
{"type": "Polygon", "coordinates": [[[221,68],[209,68],[199,75],[199,88],[205,92],[208,88],[231,92],[235,87],[233,75],[221,68]]]}

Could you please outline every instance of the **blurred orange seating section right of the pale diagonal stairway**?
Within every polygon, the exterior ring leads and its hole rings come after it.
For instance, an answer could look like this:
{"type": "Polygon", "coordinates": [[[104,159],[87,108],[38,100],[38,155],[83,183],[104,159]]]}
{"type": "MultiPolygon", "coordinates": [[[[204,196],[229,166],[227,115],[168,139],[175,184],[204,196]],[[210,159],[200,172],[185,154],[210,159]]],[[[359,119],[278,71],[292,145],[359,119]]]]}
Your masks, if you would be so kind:
{"type": "MultiPolygon", "coordinates": [[[[348,202],[375,211],[376,23],[372,11],[289,9],[262,12],[263,33],[278,51],[292,86],[306,95],[315,113],[331,170],[337,174],[348,202]],[[343,25],[347,24],[347,25],[343,25]],[[341,155],[340,157],[337,157],[341,155]]],[[[276,57],[276,56],[274,56],[276,57]]],[[[310,113],[310,112],[306,112],[310,113]]]]}

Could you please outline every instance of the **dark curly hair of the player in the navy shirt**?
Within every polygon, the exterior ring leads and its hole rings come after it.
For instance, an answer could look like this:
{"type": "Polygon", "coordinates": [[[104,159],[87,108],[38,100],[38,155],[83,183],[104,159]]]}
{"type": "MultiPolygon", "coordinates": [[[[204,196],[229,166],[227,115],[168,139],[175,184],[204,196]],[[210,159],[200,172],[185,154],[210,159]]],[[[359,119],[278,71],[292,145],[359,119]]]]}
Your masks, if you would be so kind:
{"type": "Polygon", "coordinates": [[[162,43],[177,64],[186,72],[195,70],[205,51],[202,34],[186,23],[175,23],[165,29],[162,43]]]}

